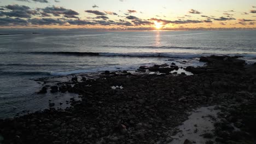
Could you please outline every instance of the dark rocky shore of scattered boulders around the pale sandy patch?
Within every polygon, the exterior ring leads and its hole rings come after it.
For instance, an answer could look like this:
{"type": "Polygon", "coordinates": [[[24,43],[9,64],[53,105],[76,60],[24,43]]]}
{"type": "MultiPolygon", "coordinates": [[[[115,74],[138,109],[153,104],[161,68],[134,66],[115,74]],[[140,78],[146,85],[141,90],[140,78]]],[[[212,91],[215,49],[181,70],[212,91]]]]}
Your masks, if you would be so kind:
{"type": "Polygon", "coordinates": [[[138,69],[156,74],[105,71],[95,80],[45,86],[39,94],[78,93],[82,100],[71,99],[65,110],[1,119],[0,143],[170,143],[188,111],[212,105],[221,112],[215,130],[202,135],[207,144],[255,143],[256,64],[229,56],[200,61],[207,64],[185,68],[194,75],[172,73],[179,69],[172,63],[138,69]]]}

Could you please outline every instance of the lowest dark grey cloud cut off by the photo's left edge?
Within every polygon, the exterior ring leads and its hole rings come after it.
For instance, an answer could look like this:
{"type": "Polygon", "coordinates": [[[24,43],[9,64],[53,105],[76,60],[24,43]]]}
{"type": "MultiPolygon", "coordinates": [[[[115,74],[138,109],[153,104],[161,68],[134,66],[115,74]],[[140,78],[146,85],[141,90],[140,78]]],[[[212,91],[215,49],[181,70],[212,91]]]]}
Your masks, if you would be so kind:
{"type": "Polygon", "coordinates": [[[20,18],[0,17],[0,26],[26,26],[28,22],[20,18]]]}

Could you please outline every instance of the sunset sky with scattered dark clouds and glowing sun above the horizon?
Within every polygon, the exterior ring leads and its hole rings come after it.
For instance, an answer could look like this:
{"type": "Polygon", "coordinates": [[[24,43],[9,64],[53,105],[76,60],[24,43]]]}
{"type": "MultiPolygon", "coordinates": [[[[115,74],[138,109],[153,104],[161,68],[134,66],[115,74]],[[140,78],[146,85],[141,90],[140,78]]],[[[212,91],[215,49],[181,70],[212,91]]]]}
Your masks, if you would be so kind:
{"type": "Polygon", "coordinates": [[[0,28],[256,29],[255,0],[0,0],[0,28]]]}

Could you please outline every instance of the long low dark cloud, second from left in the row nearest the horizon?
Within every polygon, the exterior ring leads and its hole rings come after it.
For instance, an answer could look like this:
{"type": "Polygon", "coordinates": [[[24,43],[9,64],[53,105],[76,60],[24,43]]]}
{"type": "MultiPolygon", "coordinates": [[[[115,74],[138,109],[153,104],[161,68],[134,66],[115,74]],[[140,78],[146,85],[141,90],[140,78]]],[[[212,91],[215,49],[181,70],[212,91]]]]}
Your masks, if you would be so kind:
{"type": "Polygon", "coordinates": [[[28,22],[31,22],[31,25],[64,25],[66,22],[60,19],[29,19],[28,22]]]}

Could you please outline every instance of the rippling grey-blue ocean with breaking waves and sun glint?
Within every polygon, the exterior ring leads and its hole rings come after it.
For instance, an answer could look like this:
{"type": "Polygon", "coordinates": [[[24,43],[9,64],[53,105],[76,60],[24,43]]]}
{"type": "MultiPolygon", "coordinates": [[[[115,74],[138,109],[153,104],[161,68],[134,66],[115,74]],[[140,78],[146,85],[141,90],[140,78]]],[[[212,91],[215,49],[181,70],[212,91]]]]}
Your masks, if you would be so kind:
{"type": "Polygon", "coordinates": [[[49,97],[36,94],[39,77],[172,62],[197,66],[208,55],[253,63],[256,31],[0,31],[0,118],[48,106],[49,97]]]}

